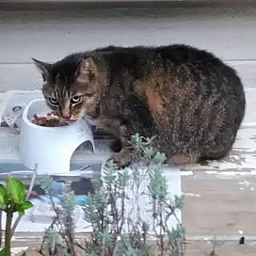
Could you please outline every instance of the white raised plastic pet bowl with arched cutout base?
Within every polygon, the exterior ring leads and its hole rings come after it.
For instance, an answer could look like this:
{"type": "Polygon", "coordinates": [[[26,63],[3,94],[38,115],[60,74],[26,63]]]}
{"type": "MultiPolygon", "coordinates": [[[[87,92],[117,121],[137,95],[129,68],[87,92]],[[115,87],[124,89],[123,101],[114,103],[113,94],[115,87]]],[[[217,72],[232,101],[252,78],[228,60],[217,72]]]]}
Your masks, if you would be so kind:
{"type": "Polygon", "coordinates": [[[68,173],[70,158],[82,142],[90,141],[93,150],[94,136],[90,126],[82,119],[66,126],[38,126],[30,120],[34,114],[46,116],[50,112],[43,99],[35,99],[26,106],[22,114],[19,158],[22,163],[38,174],[68,173]]]}

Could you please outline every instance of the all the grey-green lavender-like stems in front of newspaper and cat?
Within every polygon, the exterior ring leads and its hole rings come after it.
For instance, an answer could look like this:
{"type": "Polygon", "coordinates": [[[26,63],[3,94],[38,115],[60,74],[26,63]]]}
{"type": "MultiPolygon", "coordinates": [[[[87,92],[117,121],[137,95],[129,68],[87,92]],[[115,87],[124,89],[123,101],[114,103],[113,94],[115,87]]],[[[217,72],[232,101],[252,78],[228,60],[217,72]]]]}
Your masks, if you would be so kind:
{"type": "Polygon", "coordinates": [[[134,149],[130,166],[119,169],[109,161],[102,174],[92,178],[94,194],[88,195],[84,206],[84,218],[92,232],[85,245],[74,240],[74,194],[64,190],[61,206],[55,206],[50,196],[52,179],[43,178],[42,188],[50,197],[55,217],[39,252],[77,256],[79,248],[82,256],[183,256],[185,229],[176,212],[182,210],[184,197],[170,197],[162,170],[166,157],[154,151],[153,141],[135,134],[130,142],[134,149]],[[144,199],[148,203],[142,205],[144,199]],[[130,200],[131,209],[127,207],[130,200]],[[149,220],[143,217],[145,211],[151,213],[149,220]],[[170,218],[176,219],[176,227],[170,228],[170,218]]]}

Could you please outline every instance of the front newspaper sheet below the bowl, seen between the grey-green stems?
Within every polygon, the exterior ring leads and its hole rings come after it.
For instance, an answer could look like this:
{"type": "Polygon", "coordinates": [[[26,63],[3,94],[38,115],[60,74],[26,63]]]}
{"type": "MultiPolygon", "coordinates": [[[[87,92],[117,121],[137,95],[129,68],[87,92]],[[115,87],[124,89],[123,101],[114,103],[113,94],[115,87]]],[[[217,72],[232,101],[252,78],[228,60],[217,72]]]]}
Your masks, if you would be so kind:
{"type": "MultiPolygon", "coordinates": [[[[170,196],[171,198],[174,198],[174,194],[177,194],[180,196],[181,194],[181,179],[180,179],[180,172],[178,168],[173,168],[172,170],[168,170],[168,168],[164,169],[166,178],[168,183],[170,184],[170,196]]],[[[74,189],[74,193],[77,194],[78,187],[80,184],[83,186],[80,187],[80,189],[86,189],[88,188],[89,184],[85,181],[77,181],[74,182],[74,185],[71,188],[74,189]]],[[[149,224],[151,227],[153,226],[153,219],[152,219],[152,204],[150,203],[150,198],[146,194],[148,186],[148,180],[144,180],[140,186],[140,190],[136,191],[134,190],[134,184],[131,181],[130,186],[126,190],[126,206],[125,206],[125,216],[126,218],[136,221],[138,218],[138,210],[140,211],[140,216],[143,221],[145,221],[147,224],[149,224]],[[139,193],[139,197],[137,197],[139,193]],[[138,207],[139,206],[139,209],[138,207]]],[[[59,187],[59,186],[58,186],[59,187]]],[[[34,189],[37,190],[37,187],[34,189]]],[[[57,190],[57,189],[56,189],[57,190]]],[[[56,193],[58,194],[58,192],[56,193]]],[[[43,232],[46,227],[50,226],[50,223],[52,222],[52,218],[54,218],[54,210],[50,206],[49,202],[42,201],[43,195],[39,195],[39,198],[32,197],[30,201],[34,204],[34,206],[26,210],[26,215],[22,218],[22,221],[19,223],[18,228],[16,231],[19,232],[43,232]],[[39,201],[41,200],[41,201],[39,201]]],[[[75,224],[75,230],[76,232],[90,232],[91,226],[88,222],[84,220],[84,212],[83,207],[81,203],[81,192],[76,195],[75,200],[77,203],[77,206],[74,210],[74,224],[75,224]],[[80,195],[79,195],[80,194],[80,195]],[[80,197],[80,198],[78,198],[80,197]]],[[[49,200],[49,199],[48,199],[49,200]]],[[[54,202],[58,205],[58,197],[54,197],[54,202]]],[[[86,197],[85,197],[85,204],[86,204],[86,197]]],[[[121,209],[120,209],[121,210],[121,209]]],[[[178,210],[176,212],[177,218],[181,221],[181,212],[178,210]]],[[[6,215],[3,214],[2,216],[2,225],[6,221],[6,215]]],[[[14,219],[18,217],[18,214],[14,214],[14,219]]],[[[172,217],[170,218],[168,222],[168,226],[171,227],[176,226],[178,224],[178,221],[176,218],[172,217]]],[[[130,226],[124,227],[127,232],[130,231],[130,226]]],[[[149,230],[149,233],[154,233],[154,230],[149,230]]]]}

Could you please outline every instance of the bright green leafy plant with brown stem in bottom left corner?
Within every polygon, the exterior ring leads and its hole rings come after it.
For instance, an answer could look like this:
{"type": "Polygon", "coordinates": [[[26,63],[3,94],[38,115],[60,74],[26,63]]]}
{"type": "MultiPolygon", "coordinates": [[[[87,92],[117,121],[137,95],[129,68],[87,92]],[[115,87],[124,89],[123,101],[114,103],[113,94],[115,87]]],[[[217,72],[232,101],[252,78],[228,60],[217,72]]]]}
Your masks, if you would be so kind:
{"type": "Polygon", "coordinates": [[[25,185],[18,179],[8,178],[6,186],[0,186],[0,208],[6,212],[5,248],[4,253],[2,252],[5,256],[10,256],[11,224],[14,212],[22,216],[26,209],[33,206],[31,202],[24,201],[24,197],[25,185]]]}

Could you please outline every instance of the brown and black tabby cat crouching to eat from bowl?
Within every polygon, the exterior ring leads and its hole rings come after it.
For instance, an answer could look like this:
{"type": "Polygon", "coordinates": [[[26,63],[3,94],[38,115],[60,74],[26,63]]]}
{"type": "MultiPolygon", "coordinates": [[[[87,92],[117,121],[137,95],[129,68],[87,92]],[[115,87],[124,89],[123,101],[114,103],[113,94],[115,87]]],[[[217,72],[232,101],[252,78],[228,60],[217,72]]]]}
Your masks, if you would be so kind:
{"type": "Polygon", "coordinates": [[[53,110],[60,116],[89,115],[122,141],[122,150],[114,154],[120,166],[130,161],[126,142],[136,132],[157,135],[155,147],[170,163],[222,158],[244,116],[245,95],[236,72],[190,46],[109,46],[54,64],[34,61],[53,110]],[[63,105],[75,94],[82,95],[81,103],[63,105]]]}

